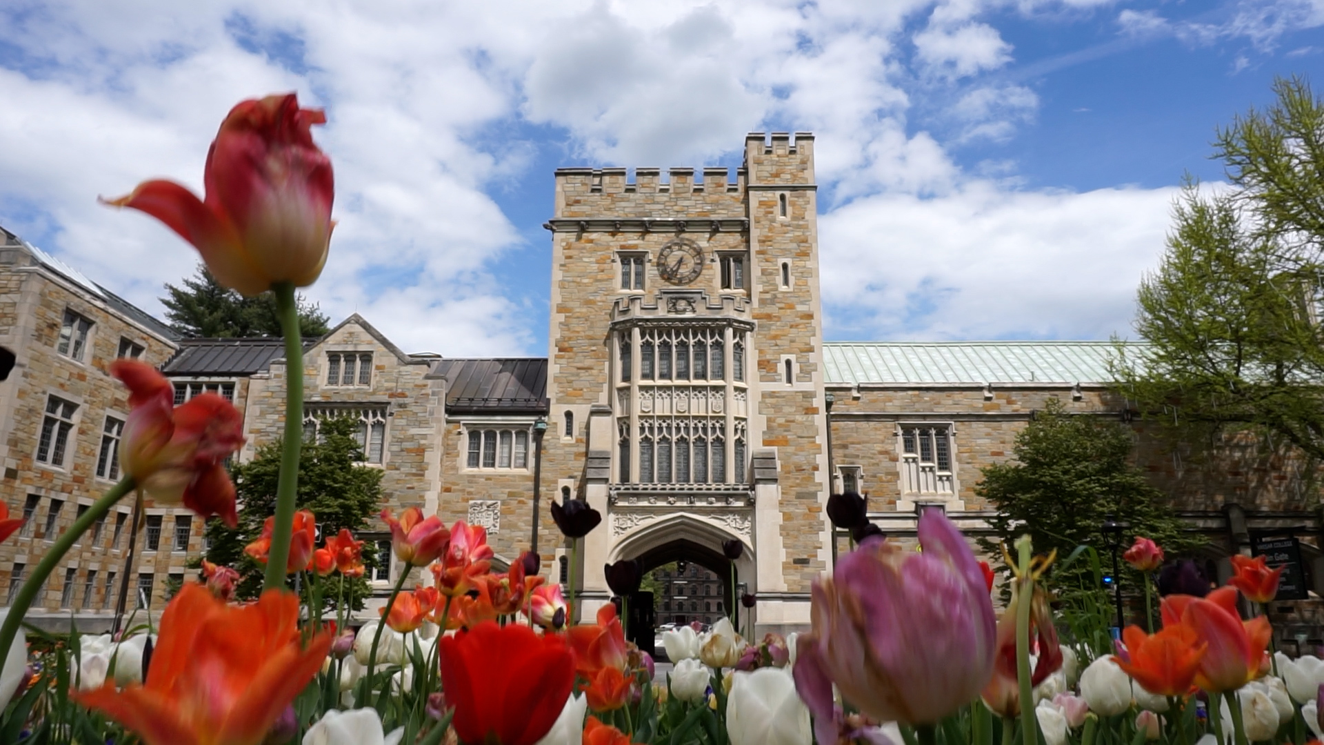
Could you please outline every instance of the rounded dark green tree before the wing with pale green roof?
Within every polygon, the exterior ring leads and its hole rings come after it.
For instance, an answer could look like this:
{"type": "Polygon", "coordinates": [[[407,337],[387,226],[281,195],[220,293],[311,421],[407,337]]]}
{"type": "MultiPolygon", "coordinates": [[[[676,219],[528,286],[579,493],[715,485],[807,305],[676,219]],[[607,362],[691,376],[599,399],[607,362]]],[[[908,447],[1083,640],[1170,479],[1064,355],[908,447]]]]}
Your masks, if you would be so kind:
{"type": "MultiPolygon", "coordinates": [[[[1189,553],[1198,544],[1182,533],[1162,492],[1132,464],[1132,444],[1125,426],[1068,414],[1062,402],[1050,399],[1016,436],[1016,460],[982,469],[974,493],[997,516],[989,520],[994,537],[980,538],[981,547],[1001,555],[1002,546],[1010,551],[1017,537],[1029,534],[1034,553],[1058,551],[1059,563],[1047,582],[1064,594],[1100,590],[1088,562],[1064,559],[1082,545],[1107,557],[1103,524],[1108,516],[1131,525],[1121,538],[1123,550],[1135,536],[1144,536],[1168,555],[1189,553]]],[[[1104,569],[1111,573],[1111,565],[1104,569]]],[[[1123,575],[1123,587],[1140,587],[1139,578],[1123,575]]]]}

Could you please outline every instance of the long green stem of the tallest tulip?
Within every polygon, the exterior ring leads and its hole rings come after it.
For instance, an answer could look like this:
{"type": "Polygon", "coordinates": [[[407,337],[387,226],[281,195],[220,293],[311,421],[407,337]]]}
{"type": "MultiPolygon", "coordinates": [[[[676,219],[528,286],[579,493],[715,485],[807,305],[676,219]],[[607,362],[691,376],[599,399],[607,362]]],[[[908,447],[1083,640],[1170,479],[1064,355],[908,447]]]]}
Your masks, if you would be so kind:
{"type": "Polygon", "coordinates": [[[285,335],[285,439],[281,443],[281,479],[275,487],[275,522],[267,553],[262,591],[285,587],[285,565],[290,559],[294,530],[294,497],[299,487],[299,451],[303,447],[303,342],[299,339],[299,309],[294,285],[271,285],[275,314],[285,335]]]}

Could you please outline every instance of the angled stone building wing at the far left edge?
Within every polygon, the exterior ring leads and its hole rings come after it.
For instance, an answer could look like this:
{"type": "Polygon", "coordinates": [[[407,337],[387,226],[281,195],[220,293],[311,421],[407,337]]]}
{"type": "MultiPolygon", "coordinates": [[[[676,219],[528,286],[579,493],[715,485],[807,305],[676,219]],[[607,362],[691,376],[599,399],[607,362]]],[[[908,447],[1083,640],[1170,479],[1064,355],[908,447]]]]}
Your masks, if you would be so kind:
{"type": "MultiPolygon", "coordinates": [[[[8,604],[56,537],[120,477],[128,396],[109,365],[122,357],[162,365],[177,346],[164,323],[0,229],[0,347],[15,361],[0,382],[0,498],[26,521],[0,544],[8,604]]],[[[148,501],[134,536],[132,504],[120,502],[65,557],[29,614],[33,623],[73,616],[79,628],[109,628],[126,575],[128,612],[164,606],[169,579],[183,579],[185,561],[201,550],[203,521],[148,501]]]]}

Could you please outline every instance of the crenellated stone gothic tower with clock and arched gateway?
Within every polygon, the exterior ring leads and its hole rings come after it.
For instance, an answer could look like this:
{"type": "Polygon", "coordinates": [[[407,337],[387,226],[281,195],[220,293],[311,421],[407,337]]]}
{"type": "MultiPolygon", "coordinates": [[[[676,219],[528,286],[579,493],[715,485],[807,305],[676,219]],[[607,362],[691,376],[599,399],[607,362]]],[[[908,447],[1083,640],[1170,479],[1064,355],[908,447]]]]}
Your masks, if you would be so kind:
{"type": "Polygon", "coordinates": [[[830,553],[813,135],[749,134],[733,180],[659,176],[556,171],[542,488],[604,516],[585,614],[606,562],[724,577],[739,540],[760,631],[808,624],[830,553]]]}

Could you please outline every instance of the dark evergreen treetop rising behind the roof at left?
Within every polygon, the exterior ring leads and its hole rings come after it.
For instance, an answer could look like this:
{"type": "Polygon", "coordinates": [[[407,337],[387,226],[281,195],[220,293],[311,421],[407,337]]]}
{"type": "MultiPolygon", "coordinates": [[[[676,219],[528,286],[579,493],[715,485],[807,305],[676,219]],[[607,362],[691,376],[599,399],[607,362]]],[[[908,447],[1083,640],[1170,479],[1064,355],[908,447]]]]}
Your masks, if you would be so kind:
{"type": "MultiPolygon", "coordinates": [[[[199,264],[197,274],[185,277],[181,285],[167,284],[167,297],[162,298],[166,318],[179,333],[208,338],[281,335],[274,294],[244,297],[225,289],[204,264],[199,264]]],[[[320,337],[330,330],[328,318],[316,304],[307,302],[302,294],[295,301],[299,308],[299,330],[305,338],[320,337]]]]}

